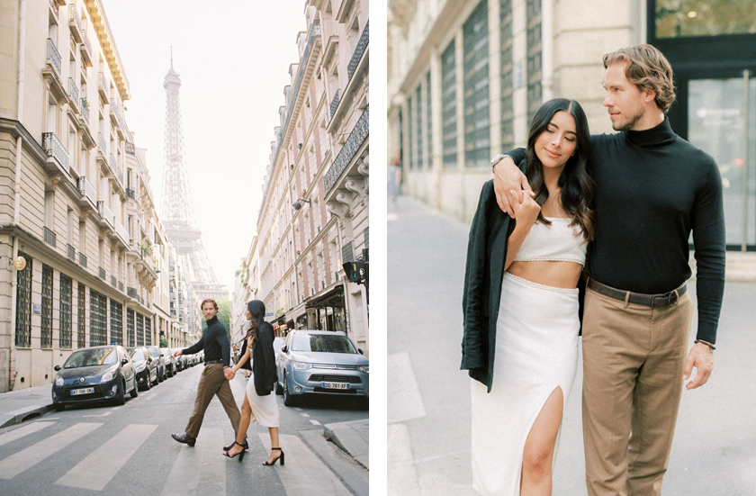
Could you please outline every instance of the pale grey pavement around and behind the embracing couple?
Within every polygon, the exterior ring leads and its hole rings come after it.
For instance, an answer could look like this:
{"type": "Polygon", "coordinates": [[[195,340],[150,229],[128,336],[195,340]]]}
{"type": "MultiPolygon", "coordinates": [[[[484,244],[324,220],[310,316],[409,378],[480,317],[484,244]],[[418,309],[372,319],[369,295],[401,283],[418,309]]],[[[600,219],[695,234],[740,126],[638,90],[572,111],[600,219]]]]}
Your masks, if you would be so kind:
{"type": "MultiPolygon", "coordinates": [[[[408,197],[389,209],[390,495],[476,494],[470,378],[459,370],[467,235],[463,223],[408,197]]],[[[728,277],[731,265],[728,254],[728,277]]],[[[689,288],[695,302],[695,283],[689,288]]],[[[725,284],[715,370],[705,386],[683,392],[665,496],[756,494],[753,302],[756,284],[725,284]]],[[[579,366],[554,467],[554,494],[561,496],[586,493],[581,383],[579,366]]]]}

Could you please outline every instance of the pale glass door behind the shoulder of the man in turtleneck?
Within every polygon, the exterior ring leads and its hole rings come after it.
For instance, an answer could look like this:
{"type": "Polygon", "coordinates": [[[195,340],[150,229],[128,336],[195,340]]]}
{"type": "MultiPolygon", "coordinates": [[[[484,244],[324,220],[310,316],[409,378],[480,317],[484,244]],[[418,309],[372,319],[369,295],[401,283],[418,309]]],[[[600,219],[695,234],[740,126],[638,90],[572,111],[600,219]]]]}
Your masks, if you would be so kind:
{"type": "Polygon", "coordinates": [[[689,79],[688,140],[722,174],[727,249],[756,249],[756,74],[689,79]]]}

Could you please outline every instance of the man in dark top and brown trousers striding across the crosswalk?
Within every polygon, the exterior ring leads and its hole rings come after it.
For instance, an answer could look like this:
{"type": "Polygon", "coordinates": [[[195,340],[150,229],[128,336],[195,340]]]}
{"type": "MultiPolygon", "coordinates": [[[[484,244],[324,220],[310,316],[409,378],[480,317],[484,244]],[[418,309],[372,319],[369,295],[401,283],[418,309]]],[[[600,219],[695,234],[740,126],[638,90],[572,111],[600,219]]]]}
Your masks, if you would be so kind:
{"type": "Polygon", "coordinates": [[[213,395],[218,396],[220,404],[223,405],[223,409],[226,410],[226,414],[231,420],[234,438],[236,438],[238,422],[241,419],[241,413],[229,385],[229,381],[233,378],[230,367],[231,350],[226,328],[218,321],[218,303],[210,298],[204,300],[202,302],[202,314],[207,320],[207,329],[202,333],[202,338],[191,347],[174,353],[175,358],[180,355],[192,355],[202,349],[205,350],[204,370],[202,370],[200,383],[197,385],[197,397],[194,398],[192,416],[189,418],[189,423],[186,424],[184,434],[171,434],[171,437],[176,441],[189,446],[194,446],[197,441],[204,412],[207,410],[213,395]]]}

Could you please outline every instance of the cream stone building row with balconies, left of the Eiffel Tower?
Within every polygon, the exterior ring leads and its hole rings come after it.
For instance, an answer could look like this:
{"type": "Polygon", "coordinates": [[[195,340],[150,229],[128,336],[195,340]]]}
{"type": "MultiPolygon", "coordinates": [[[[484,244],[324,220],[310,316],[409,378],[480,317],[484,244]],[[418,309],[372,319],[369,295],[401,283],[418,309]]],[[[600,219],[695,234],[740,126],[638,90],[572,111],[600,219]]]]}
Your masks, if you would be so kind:
{"type": "Polygon", "coordinates": [[[157,344],[177,330],[166,236],[101,3],[0,11],[3,392],[50,383],[76,348],[157,344]]]}

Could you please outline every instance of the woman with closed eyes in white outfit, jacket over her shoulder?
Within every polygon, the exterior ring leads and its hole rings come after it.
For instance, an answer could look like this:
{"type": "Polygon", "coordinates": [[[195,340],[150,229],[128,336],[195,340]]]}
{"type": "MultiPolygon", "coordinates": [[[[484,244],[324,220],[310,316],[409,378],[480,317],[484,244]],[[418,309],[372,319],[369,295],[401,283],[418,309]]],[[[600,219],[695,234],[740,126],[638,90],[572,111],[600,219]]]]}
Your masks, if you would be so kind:
{"type": "Polygon", "coordinates": [[[510,192],[511,221],[492,181],[482,188],[467,252],[462,368],[476,379],[473,486],[484,495],[552,492],[577,368],[577,284],[595,229],[589,154],[581,106],[555,99],[534,116],[520,165],[535,197],[510,192]]]}

